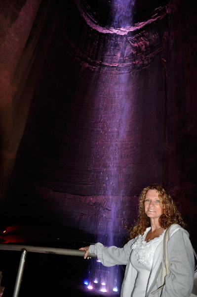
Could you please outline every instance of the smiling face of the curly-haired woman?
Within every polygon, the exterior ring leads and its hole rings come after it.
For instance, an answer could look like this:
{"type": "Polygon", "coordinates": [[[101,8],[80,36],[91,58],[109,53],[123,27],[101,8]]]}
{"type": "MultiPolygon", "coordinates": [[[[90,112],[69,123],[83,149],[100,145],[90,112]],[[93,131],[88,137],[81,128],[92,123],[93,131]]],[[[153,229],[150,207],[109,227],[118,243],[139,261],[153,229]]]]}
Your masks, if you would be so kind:
{"type": "Polygon", "coordinates": [[[144,201],[144,211],[151,219],[158,219],[162,214],[158,192],[156,190],[149,190],[144,201]]]}

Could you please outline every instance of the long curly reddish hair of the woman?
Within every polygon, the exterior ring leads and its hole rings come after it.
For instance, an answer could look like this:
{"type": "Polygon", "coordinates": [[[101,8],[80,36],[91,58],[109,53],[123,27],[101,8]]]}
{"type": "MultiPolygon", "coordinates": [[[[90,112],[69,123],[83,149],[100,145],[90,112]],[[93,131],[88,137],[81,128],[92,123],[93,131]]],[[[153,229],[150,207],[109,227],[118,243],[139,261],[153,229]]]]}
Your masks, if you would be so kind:
{"type": "Polygon", "coordinates": [[[144,201],[149,190],[156,190],[158,192],[160,206],[162,208],[162,214],[159,217],[159,225],[164,229],[172,224],[179,224],[183,228],[185,226],[181,214],[177,210],[168,191],[161,185],[153,184],[145,188],[140,194],[138,220],[136,226],[129,230],[129,239],[135,238],[139,234],[143,235],[146,228],[151,226],[150,219],[144,211],[144,201]]]}

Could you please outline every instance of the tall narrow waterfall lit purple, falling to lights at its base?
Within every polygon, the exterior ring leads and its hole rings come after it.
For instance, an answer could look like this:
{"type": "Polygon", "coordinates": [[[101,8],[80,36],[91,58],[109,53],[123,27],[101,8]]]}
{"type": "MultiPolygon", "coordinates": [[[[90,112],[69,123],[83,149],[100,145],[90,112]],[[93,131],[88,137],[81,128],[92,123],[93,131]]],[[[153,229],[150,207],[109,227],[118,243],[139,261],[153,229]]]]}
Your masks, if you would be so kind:
{"type": "MultiPolygon", "coordinates": [[[[113,0],[114,14],[112,27],[125,28],[131,24],[133,4],[134,0],[113,0]]],[[[99,93],[102,94],[102,97],[99,102],[100,120],[96,135],[96,149],[101,150],[101,146],[103,146],[103,149],[107,151],[107,154],[104,156],[104,162],[107,164],[107,174],[106,172],[102,172],[101,174],[105,176],[106,200],[108,200],[108,205],[110,205],[110,210],[108,209],[107,211],[108,213],[110,212],[110,215],[106,218],[105,211],[101,209],[100,213],[103,213],[103,216],[100,219],[95,218],[93,225],[95,228],[98,227],[101,230],[97,242],[101,242],[106,246],[118,245],[119,247],[122,243],[119,240],[118,233],[122,230],[123,222],[122,219],[119,219],[118,214],[121,209],[121,199],[124,195],[126,174],[124,170],[121,170],[125,164],[122,148],[126,144],[128,119],[131,116],[131,102],[129,102],[129,96],[127,94],[129,81],[128,66],[125,62],[126,44],[126,35],[117,44],[116,34],[114,34],[114,38],[111,38],[108,49],[104,53],[103,64],[105,65],[105,70],[103,73],[105,73],[105,76],[102,73],[98,83],[99,93]],[[109,64],[109,57],[121,64],[121,73],[116,76],[116,79],[113,78],[113,75],[110,76],[111,65],[109,64]],[[106,141],[105,144],[101,145],[100,135],[103,133],[105,134],[106,141]]],[[[121,267],[117,265],[110,268],[104,267],[101,263],[93,259],[89,265],[89,273],[84,284],[89,290],[98,290],[106,293],[106,295],[107,293],[113,293],[113,291],[120,292],[122,280],[121,270],[121,267]]]]}

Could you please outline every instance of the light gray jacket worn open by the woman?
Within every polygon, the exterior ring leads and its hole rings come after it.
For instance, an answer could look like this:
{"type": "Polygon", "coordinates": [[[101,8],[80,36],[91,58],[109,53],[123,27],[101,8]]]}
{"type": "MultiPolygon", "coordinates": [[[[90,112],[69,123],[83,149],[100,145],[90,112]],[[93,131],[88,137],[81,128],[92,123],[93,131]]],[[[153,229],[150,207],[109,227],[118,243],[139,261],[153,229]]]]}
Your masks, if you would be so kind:
{"type": "MultiPolygon", "coordinates": [[[[169,236],[167,252],[170,274],[165,277],[163,289],[152,295],[162,285],[163,241],[161,241],[154,254],[145,297],[189,297],[192,292],[195,261],[189,234],[181,226],[174,224],[170,227],[169,236]]],[[[126,265],[121,297],[131,297],[137,278],[137,271],[129,260],[131,245],[135,240],[130,240],[122,248],[104,247],[101,243],[89,247],[89,252],[95,253],[104,266],[126,265]]]]}

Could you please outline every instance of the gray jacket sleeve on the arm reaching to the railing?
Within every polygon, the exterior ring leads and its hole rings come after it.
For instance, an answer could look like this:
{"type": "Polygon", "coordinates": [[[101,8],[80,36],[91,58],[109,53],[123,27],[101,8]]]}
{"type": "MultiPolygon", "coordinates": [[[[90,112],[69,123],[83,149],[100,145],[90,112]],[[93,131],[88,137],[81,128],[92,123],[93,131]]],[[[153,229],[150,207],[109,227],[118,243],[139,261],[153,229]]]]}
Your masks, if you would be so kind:
{"type": "Polygon", "coordinates": [[[89,252],[94,252],[104,266],[126,265],[131,252],[132,241],[130,240],[122,248],[104,247],[101,243],[97,243],[89,247],[89,252]]]}

